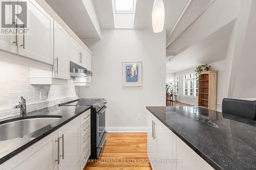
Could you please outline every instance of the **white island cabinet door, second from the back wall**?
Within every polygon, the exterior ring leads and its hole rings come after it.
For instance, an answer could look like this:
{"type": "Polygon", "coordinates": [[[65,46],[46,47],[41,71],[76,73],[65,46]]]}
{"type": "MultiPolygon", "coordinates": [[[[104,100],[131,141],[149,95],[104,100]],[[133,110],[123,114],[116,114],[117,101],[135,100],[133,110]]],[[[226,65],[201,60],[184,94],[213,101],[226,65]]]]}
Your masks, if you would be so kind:
{"type": "Polygon", "coordinates": [[[171,162],[173,157],[173,132],[170,131],[165,125],[163,125],[159,120],[158,133],[156,136],[157,140],[157,170],[172,170],[174,169],[174,163],[171,162]]]}

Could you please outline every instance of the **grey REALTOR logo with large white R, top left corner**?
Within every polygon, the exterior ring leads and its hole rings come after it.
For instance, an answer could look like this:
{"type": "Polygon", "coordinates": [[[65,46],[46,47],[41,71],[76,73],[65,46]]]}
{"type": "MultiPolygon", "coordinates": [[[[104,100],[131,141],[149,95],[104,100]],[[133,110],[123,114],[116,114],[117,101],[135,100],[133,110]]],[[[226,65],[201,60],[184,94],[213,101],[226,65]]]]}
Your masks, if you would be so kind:
{"type": "Polygon", "coordinates": [[[1,1],[1,34],[27,34],[28,12],[26,1],[1,1]]]}

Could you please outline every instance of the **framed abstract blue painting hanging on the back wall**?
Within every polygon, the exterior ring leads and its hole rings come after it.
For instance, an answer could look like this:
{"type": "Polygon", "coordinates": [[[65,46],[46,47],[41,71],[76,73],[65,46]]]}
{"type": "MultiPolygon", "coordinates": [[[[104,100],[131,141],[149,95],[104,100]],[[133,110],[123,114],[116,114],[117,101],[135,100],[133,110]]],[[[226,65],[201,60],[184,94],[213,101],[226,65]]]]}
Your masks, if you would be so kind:
{"type": "Polygon", "coordinates": [[[122,62],[123,86],[142,86],[142,62],[122,62]]]}

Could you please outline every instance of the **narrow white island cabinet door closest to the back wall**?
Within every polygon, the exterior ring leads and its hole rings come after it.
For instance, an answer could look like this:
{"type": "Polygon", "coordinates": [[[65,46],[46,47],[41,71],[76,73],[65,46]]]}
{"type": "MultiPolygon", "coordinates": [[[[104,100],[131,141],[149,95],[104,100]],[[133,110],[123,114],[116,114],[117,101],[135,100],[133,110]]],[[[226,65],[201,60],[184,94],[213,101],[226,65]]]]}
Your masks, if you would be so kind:
{"type": "Polygon", "coordinates": [[[148,112],[147,113],[147,154],[151,160],[151,167],[153,170],[157,169],[156,159],[157,159],[157,142],[154,136],[157,136],[155,117],[148,112]]]}

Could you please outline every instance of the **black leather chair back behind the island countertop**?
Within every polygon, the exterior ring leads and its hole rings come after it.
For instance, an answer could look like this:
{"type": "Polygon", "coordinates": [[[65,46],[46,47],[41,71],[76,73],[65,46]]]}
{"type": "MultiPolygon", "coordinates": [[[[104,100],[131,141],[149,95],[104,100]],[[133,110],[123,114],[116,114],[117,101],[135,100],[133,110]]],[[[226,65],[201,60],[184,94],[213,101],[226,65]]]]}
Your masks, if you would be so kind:
{"type": "Polygon", "coordinates": [[[222,113],[256,120],[256,102],[224,98],[222,101],[222,113]]]}

